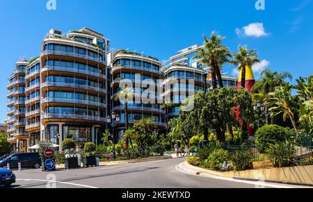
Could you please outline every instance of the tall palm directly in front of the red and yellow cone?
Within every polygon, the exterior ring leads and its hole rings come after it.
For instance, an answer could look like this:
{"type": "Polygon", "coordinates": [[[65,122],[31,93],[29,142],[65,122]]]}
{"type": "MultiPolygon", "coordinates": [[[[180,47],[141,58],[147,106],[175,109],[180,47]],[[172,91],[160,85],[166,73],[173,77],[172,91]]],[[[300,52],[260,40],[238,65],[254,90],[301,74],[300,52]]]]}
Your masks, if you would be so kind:
{"type": "Polygon", "coordinates": [[[230,61],[231,65],[239,66],[241,73],[241,87],[246,88],[246,67],[252,67],[255,63],[260,62],[257,58],[255,49],[248,50],[247,47],[238,47],[238,53],[234,54],[234,58],[230,61]]]}

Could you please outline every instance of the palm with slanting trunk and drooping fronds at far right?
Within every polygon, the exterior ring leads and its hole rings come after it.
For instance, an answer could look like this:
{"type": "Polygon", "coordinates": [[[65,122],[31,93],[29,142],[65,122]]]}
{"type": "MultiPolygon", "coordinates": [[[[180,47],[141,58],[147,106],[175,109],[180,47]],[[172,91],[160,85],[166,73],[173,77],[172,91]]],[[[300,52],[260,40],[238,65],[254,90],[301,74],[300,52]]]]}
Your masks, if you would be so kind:
{"type": "Polygon", "coordinates": [[[294,113],[291,110],[291,90],[293,86],[286,83],[286,85],[276,87],[274,92],[271,92],[268,102],[270,106],[273,106],[270,110],[272,111],[272,117],[283,113],[283,119],[286,121],[289,116],[294,130],[298,133],[296,121],[294,119],[294,113]]]}

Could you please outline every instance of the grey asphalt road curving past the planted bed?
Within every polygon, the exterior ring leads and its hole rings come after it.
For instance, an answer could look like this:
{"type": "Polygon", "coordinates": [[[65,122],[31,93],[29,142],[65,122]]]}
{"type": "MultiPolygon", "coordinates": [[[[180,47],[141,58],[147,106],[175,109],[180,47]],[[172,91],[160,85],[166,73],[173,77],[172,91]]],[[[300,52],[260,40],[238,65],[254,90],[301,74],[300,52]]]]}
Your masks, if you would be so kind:
{"type": "Polygon", "coordinates": [[[90,167],[42,172],[15,171],[13,188],[254,188],[254,184],[204,178],[177,171],[184,159],[138,162],[128,165],[90,167]],[[52,182],[52,183],[51,183],[52,182]]]}

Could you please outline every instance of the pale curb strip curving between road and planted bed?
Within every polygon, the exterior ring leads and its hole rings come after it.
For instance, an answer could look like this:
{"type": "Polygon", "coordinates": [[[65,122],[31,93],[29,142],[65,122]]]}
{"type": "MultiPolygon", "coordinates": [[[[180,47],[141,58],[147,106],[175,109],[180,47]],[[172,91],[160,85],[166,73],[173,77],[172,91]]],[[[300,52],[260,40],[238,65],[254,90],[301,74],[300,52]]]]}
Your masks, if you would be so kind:
{"type": "MultiPolygon", "coordinates": [[[[182,169],[179,169],[180,165],[177,165],[175,167],[175,169],[177,171],[180,171],[184,174],[189,174],[189,175],[193,175],[193,176],[199,176],[199,175],[196,175],[196,174],[193,174],[193,173],[190,173],[188,171],[182,171],[182,169]]],[[[219,176],[212,176],[212,175],[209,175],[209,174],[202,174],[201,175],[202,177],[204,178],[213,178],[213,179],[216,179],[216,180],[227,180],[227,181],[230,181],[230,182],[235,182],[235,183],[245,183],[245,184],[250,184],[250,185],[256,185],[258,187],[269,187],[269,188],[293,188],[293,187],[287,187],[287,186],[282,186],[282,185],[273,185],[273,184],[269,184],[269,183],[265,183],[265,182],[253,182],[253,181],[249,181],[249,180],[236,180],[234,178],[224,178],[224,177],[219,177],[219,176]]]]}

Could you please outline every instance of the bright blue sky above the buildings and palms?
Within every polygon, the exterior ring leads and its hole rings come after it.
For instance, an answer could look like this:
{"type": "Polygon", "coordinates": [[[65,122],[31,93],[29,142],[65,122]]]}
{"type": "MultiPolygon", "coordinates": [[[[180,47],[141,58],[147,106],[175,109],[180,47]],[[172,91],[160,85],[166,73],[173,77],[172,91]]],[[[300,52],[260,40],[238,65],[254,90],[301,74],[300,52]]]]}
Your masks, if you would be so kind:
{"type": "MultiPolygon", "coordinates": [[[[202,35],[218,31],[225,45],[257,49],[265,67],[289,71],[294,78],[313,70],[313,0],[48,0],[0,1],[0,123],[6,119],[6,81],[19,56],[38,56],[50,28],[65,33],[83,26],[111,39],[111,47],[167,59],[179,49],[202,44],[202,35]]],[[[234,67],[224,71],[236,74],[234,67]]],[[[257,74],[256,72],[256,74],[257,74]]],[[[294,82],[294,81],[293,81],[294,82]]]]}

